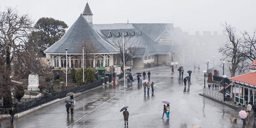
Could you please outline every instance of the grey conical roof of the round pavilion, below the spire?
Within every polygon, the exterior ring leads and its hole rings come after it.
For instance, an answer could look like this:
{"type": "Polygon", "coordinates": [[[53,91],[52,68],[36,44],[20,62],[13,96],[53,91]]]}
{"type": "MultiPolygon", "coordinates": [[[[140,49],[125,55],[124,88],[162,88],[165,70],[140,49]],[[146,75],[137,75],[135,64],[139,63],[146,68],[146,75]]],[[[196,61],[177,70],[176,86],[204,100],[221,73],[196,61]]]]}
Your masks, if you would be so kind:
{"type": "Polygon", "coordinates": [[[96,53],[118,53],[117,48],[103,40],[83,16],[80,16],[64,36],[58,42],[47,48],[44,53],[63,54],[66,53],[65,48],[68,48],[68,54],[78,53],[78,50],[74,46],[79,46],[80,41],[84,39],[91,40],[96,45],[99,49],[96,53]]]}

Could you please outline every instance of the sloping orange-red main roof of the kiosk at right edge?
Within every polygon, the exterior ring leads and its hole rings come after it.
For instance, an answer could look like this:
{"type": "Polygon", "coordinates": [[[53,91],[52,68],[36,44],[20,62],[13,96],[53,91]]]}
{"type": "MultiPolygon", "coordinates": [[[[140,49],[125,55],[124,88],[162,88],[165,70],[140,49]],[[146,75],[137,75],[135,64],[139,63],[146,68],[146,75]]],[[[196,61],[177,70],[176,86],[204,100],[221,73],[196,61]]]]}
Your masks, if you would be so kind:
{"type": "Polygon", "coordinates": [[[238,83],[246,83],[246,84],[250,84],[250,85],[256,85],[256,72],[253,73],[246,73],[243,75],[238,75],[235,77],[231,77],[229,78],[229,80],[235,80],[238,83]]]}

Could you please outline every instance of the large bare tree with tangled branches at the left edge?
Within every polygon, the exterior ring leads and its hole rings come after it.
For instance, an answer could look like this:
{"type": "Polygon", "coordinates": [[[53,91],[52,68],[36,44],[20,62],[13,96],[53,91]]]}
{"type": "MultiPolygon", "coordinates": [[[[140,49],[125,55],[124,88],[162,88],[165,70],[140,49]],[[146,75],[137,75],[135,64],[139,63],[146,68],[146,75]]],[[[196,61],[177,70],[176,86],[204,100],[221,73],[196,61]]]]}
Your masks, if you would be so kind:
{"type": "Polygon", "coordinates": [[[12,104],[11,87],[15,87],[12,81],[27,75],[32,64],[34,69],[41,65],[38,51],[28,43],[32,24],[27,14],[19,16],[10,7],[0,12],[0,96],[4,105],[12,104]]]}

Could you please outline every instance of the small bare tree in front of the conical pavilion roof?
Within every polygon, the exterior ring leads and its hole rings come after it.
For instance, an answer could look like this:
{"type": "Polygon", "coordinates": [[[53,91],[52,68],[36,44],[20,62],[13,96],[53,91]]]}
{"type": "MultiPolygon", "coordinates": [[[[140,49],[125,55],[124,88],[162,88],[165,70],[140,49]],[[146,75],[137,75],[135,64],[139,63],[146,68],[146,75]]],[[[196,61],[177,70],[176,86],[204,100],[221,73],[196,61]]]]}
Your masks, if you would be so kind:
{"type": "MultiPolygon", "coordinates": [[[[79,45],[75,45],[75,49],[78,53],[83,53],[83,48],[84,48],[85,67],[92,67],[93,65],[91,64],[92,63],[91,61],[94,57],[92,53],[97,53],[98,48],[91,40],[87,40],[87,39],[81,40],[79,45]]],[[[83,55],[81,57],[83,57],[83,55]]]]}

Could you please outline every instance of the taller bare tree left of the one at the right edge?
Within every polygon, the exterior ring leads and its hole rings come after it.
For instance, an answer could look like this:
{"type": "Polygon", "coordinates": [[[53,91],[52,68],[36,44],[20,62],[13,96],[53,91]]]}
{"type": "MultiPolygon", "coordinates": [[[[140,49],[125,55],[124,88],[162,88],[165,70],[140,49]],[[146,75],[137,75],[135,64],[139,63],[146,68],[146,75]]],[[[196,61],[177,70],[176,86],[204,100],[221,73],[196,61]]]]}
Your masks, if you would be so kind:
{"type": "Polygon", "coordinates": [[[228,33],[229,42],[225,44],[224,47],[219,48],[219,52],[224,55],[224,60],[231,63],[231,67],[229,66],[229,71],[231,77],[235,76],[236,71],[238,70],[240,63],[245,60],[244,57],[244,49],[245,46],[241,42],[240,38],[236,38],[235,36],[235,27],[228,25],[225,23],[224,28],[228,33]]]}

